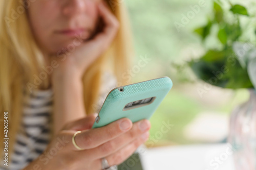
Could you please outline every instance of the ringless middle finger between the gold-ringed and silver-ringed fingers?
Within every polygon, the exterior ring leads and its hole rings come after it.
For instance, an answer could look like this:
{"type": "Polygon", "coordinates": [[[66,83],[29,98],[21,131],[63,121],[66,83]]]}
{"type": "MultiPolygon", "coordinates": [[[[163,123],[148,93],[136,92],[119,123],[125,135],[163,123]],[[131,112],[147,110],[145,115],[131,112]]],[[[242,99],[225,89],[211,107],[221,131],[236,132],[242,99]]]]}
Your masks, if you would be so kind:
{"type": "Polygon", "coordinates": [[[83,154],[93,155],[95,159],[102,158],[108,155],[111,155],[123,148],[125,145],[133,141],[134,139],[140,137],[142,134],[147,135],[148,130],[151,125],[147,119],[141,120],[134,123],[131,130],[126,133],[121,134],[120,136],[99,145],[99,147],[88,150],[83,154]]]}

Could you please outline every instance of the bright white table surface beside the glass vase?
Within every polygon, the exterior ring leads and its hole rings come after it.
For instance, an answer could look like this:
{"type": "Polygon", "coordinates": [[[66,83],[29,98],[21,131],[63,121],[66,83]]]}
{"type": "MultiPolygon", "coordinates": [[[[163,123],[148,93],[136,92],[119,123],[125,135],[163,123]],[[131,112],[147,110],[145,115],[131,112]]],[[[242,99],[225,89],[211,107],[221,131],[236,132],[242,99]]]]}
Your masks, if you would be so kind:
{"type": "Polygon", "coordinates": [[[234,170],[228,147],[228,144],[222,143],[146,149],[142,160],[146,170],[234,170]],[[220,158],[219,163],[215,161],[216,157],[220,158]]]}

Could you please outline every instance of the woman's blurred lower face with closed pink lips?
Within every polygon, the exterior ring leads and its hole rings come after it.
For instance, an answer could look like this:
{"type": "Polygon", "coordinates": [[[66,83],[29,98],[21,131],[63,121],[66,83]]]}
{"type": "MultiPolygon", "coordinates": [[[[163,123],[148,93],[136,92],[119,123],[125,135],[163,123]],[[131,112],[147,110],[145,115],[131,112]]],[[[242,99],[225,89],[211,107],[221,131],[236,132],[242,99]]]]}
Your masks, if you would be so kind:
{"type": "Polygon", "coordinates": [[[36,0],[28,8],[32,32],[42,50],[55,54],[86,40],[96,29],[102,0],[36,0]]]}

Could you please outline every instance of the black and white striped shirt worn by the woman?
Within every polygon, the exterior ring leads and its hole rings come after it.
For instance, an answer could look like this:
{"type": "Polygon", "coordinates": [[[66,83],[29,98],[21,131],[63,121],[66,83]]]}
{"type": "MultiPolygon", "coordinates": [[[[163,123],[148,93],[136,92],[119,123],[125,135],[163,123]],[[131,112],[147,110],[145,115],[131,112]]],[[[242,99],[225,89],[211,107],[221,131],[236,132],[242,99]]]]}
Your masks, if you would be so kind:
{"type": "MultiPolygon", "coordinates": [[[[102,78],[103,86],[96,105],[97,111],[102,106],[108,92],[116,87],[116,78],[113,75],[105,72],[102,78]]],[[[1,161],[1,170],[23,169],[45,151],[51,140],[53,95],[52,89],[33,90],[32,93],[24,95],[23,119],[16,136],[12,161],[8,164],[8,168],[1,161]]]]}

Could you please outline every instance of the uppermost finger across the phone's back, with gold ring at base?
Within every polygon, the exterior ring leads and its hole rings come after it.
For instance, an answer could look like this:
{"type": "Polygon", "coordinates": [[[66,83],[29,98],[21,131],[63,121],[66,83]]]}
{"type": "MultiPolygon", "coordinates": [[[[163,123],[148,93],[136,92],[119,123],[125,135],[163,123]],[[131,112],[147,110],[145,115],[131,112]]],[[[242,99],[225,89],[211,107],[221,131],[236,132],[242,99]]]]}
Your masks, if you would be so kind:
{"type": "MultiPolygon", "coordinates": [[[[133,124],[128,118],[121,118],[109,125],[101,128],[82,131],[75,137],[76,144],[82,149],[92,149],[99,145],[116,138],[122,133],[130,130],[133,124]]],[[[73,147],[74,150],[75,147],[73,147]]]]}

